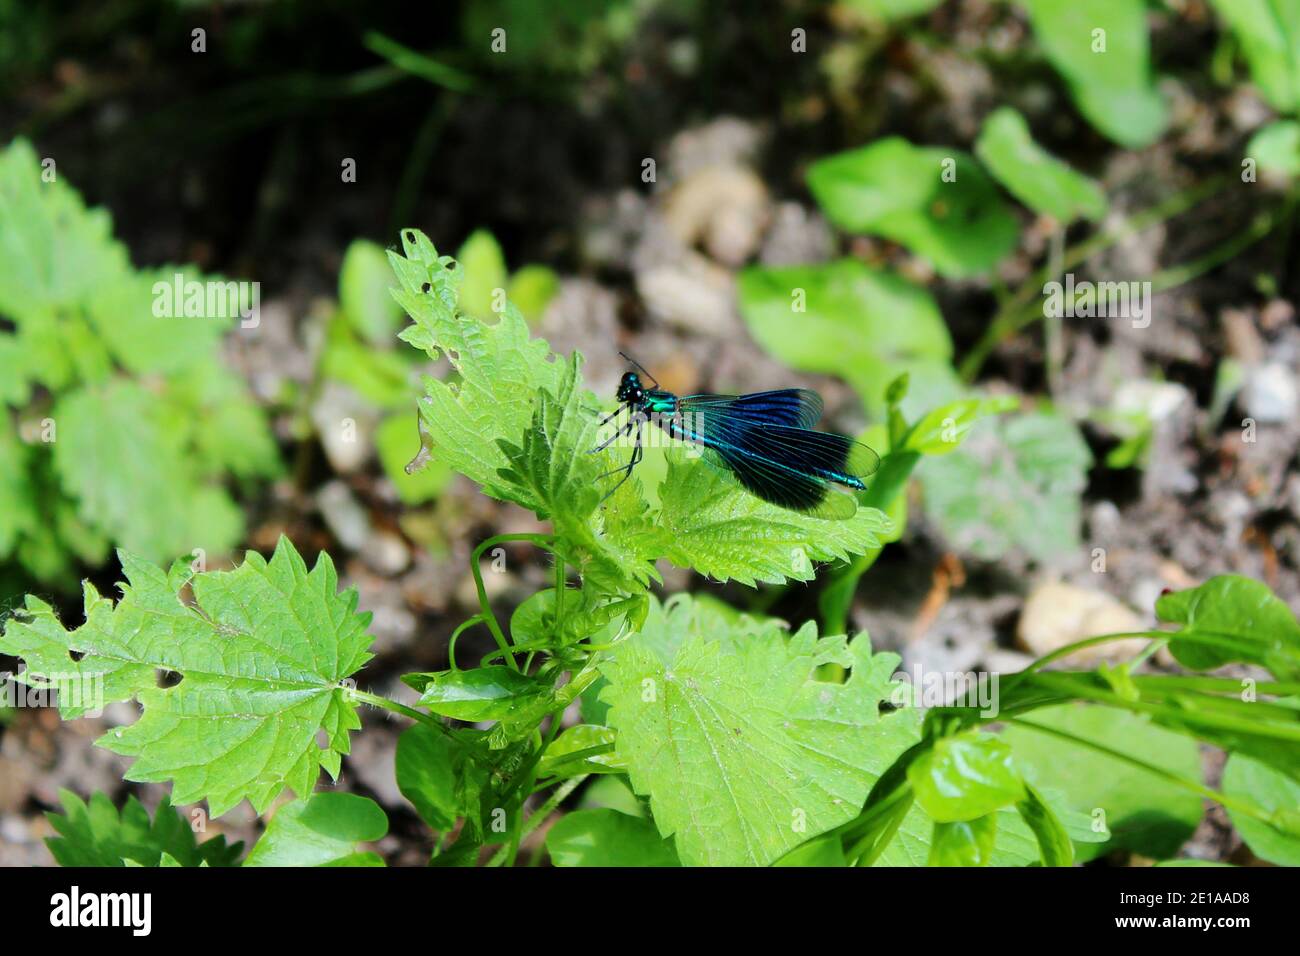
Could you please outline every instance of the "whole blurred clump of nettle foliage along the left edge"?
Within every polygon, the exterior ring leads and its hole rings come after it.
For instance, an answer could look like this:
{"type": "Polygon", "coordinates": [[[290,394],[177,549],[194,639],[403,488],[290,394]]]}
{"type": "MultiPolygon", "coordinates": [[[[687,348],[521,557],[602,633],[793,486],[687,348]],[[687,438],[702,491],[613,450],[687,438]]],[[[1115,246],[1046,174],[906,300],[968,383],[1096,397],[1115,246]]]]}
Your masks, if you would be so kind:
{"type": "Polygon", "coordinates": [[[0,152],[0,319],[13,324],[0,330],[0,562],[68,585],[75,561],[103,563],[114,542],[170,561],[239,540],[228,477],[272,476],[280,460],[220,364],[242,303],[221,284],[191,300],[183,284],[203,278],[133,269],[108,215],[30,143],[0,152]]]}

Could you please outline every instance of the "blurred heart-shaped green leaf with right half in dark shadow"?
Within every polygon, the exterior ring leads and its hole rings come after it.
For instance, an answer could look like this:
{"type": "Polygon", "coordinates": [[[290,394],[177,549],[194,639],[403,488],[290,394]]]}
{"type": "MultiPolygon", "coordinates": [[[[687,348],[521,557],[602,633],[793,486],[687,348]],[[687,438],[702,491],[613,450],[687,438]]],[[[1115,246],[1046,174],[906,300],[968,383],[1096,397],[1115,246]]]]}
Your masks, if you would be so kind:
{"type": "Polygon", "coordinates": [[[961,150],[888,137],[818,160],[807,181],[840,229],[901,242],[944,276],[992,271],[1019,235],[993,181],[961,150]]]}

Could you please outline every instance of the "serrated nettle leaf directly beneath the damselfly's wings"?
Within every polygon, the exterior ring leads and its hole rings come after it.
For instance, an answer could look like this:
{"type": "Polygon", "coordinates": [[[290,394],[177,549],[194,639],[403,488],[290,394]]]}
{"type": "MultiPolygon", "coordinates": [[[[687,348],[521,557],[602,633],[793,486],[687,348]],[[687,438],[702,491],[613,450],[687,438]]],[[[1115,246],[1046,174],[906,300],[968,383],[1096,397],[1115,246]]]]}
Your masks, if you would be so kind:
{"type": "Polygon", "coordinates": [[[890,523],[859,506],[845,520],[824,520],[771,505],[705,462],[668,462],[659,490],[658,550],[679,567],[719,581],[807,581],[815,561],[845,561],[876,548],[890,523]]]}

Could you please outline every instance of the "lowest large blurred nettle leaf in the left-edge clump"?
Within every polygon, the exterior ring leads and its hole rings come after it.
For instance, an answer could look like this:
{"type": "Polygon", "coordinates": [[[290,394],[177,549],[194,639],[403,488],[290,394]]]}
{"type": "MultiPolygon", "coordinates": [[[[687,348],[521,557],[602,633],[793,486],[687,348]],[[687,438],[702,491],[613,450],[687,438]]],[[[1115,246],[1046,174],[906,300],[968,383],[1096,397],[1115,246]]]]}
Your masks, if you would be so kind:
{"type": "Polygon", "coordinates": [[[185,423],[143,385],[66,393],[52,418],[55,471],[88,525],[148,561],[229,550],[243,529],[230,496],[195,473],[185,423]]]}

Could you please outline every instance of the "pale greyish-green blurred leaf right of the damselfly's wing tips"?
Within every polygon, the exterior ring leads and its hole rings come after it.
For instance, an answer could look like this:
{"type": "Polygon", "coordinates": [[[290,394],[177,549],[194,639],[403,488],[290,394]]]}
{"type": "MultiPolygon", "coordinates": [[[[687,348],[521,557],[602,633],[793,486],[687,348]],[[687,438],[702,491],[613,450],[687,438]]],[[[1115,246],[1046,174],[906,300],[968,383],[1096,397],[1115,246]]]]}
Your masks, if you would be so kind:
{"type": "Polygon", "coordinates": [[[1069,419],[1017,415],[975,429],[918,471],[926,514],[963,554],[997,561],[1013,548],[1048,559],[1079,546],[1080,496],[1092,454],[1069,419]]]}

